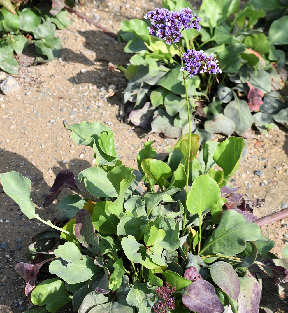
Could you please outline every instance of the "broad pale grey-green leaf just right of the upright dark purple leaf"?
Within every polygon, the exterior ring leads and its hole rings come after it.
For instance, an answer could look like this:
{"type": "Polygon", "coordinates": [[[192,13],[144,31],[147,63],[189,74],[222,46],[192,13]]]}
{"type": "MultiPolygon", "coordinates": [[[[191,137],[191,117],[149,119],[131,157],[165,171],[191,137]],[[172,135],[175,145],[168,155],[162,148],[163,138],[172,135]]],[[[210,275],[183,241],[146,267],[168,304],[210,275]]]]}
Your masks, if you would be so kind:
{"type": "Polygon", "coordinates": [[[78,175],[80,182],[84,184],[88,192],[95,197],[117,197],[117,192],[113,184],[107,177],[107,172],[101,167],[88,167],[78,175]]]}

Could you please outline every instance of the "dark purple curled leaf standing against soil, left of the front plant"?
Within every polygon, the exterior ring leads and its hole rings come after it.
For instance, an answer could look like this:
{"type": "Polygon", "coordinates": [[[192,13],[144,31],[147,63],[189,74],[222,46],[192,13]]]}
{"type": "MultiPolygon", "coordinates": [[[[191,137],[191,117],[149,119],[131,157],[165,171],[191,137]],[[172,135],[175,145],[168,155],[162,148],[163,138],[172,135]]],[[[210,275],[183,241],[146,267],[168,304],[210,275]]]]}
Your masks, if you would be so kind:
{"type": "Polygon", "coordinates": [[[67,170],[63,170],[57,174],[53,186],[49,190],[53,193],[48,195],[44,199],[43,207],[48,207],[48,205],[50,205],[58,197],[59,193],[64,188],[70,188],[74,191],[80,191],[75,183],[74,174],[67,170]]]}

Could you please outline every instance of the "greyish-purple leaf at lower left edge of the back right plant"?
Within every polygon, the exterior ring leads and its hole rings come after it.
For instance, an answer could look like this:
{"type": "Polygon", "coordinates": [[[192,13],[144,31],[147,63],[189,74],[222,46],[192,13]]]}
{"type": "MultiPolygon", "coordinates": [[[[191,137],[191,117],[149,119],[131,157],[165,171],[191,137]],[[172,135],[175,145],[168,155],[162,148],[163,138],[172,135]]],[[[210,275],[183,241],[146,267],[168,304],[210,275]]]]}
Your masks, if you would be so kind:
{"type": "Polygon", "coordinates": [[[154,106],[150,102],[146,102],[143,108],[139,110],[132,110],[129,114],[129,120],[136,126],[151,130],[151,122],[153,121],[154,106]],[[149,108],[150,107],[150,108],[149,108]]]}

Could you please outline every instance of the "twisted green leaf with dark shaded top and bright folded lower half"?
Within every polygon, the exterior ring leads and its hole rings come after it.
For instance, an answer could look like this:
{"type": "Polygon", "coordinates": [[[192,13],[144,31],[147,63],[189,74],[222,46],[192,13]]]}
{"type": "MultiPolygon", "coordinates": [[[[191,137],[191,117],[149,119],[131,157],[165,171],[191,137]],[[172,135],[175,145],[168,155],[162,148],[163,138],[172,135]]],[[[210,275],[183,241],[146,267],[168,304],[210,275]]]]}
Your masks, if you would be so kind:
{"type": "Polygon", "coordinates": [[[123,203],[125,192],[131,186],[136,176],[132,174],[133,168],[126,167],[124,165],[119,165],[114,167],[107,174],[107,178],[110,180],[114,186],[116,192],[118,193],[118,198],[109,204],[109,211],[115,214],[119,218],[123,217],[123,203]]]}

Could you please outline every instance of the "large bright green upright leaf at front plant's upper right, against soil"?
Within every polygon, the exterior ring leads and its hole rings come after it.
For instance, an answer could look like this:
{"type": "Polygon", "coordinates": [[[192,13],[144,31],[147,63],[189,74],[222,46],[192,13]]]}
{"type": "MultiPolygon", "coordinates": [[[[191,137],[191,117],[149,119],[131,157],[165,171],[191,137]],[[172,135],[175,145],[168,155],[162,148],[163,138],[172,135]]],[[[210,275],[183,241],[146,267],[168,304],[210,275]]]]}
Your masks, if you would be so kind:
{"type": "MultiPolygon", "coordinates": [[[[243,138],[230,137],[215,147],[213,160],[224,171],[225,184],[238,169],[244,146],[243,138]]],[[[220,187],[223,186],[221,185],[220,187]]]]}

